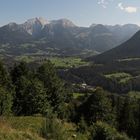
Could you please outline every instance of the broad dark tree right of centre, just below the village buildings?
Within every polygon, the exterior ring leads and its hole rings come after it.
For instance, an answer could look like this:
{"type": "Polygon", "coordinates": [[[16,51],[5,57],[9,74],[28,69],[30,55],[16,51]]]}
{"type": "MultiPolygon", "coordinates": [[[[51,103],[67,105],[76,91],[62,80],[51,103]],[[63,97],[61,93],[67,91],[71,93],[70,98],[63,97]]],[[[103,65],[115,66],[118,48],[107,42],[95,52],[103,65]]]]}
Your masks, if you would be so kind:
{"type": "Polygon", "coordinates": [[[80,113],[83,114],[88,123],[96,121],[105,121],[109,124],[114,123],[115,115],[108,93],[102,89],[97,89],[80,107],[80,113]]]}

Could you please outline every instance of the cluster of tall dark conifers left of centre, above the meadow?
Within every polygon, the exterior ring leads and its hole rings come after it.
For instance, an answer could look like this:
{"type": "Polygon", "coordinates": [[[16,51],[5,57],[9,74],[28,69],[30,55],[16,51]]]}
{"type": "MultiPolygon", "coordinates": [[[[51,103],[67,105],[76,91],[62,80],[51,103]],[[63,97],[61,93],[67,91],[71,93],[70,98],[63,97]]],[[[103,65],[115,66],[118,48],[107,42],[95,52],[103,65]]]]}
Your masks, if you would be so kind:
{"type": "Polygon", "coordinates": [[[11,76],[15,86],[13,110],[16,115],[47,114],[48,109],[53,108],[60,117],[65,116],[68,90],[50,61],[40,66],[37,72],[21,62],[11,70],[11,76]]]}

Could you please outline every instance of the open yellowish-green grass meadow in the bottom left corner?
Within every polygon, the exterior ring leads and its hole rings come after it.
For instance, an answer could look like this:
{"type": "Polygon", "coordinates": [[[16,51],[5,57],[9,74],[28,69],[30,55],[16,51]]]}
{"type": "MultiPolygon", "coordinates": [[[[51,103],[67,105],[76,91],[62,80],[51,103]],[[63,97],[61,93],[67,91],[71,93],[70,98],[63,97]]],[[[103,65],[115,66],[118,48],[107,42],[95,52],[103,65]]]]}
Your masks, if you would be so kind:
{"type": "Polygon", "coordinates": [[[44,140],[41,117],[0,118],[0,140],[44,140]]]}

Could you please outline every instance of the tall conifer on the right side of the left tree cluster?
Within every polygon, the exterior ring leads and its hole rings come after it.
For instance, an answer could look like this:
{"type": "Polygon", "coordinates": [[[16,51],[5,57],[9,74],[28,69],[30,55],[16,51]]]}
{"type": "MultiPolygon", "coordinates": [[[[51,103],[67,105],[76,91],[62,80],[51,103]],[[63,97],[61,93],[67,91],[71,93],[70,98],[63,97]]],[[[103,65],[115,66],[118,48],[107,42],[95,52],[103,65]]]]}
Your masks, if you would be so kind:
{"type": "Polygon", "coordinates": [[[54,112],[58,111],[62,115],[67,93],[64,90],[64,83],[56,74],[54,65],[50,61],[43,64],[37,71],[37,77],[44,84],[48,101],[54,112]]]}

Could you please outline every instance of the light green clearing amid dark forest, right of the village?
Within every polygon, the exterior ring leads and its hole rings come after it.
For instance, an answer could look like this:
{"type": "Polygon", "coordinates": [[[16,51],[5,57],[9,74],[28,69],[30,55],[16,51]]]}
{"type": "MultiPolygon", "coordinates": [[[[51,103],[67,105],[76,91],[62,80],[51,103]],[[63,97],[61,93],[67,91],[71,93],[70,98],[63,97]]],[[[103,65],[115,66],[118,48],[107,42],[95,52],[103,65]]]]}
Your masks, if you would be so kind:
{"type": "Polygon", "coordinates": [[[129,81],[131,78],[133,78],[132,75],[125,72],[107,74],[105,75],[105,77],[109,79],[116,79],[119,83],[125,83],[129,81]]]}

